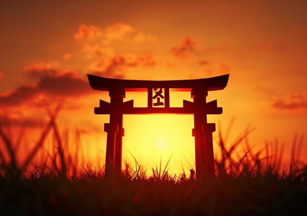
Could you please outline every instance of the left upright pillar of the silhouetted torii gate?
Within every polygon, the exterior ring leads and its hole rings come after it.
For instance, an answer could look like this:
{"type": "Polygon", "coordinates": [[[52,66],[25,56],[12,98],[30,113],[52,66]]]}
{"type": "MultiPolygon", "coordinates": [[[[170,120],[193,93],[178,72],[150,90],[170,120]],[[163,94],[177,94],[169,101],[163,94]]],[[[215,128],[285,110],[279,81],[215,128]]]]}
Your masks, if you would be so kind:
{"type": "Polygon", "coordinates": [[[124,88],[110,89],[109,96],[111,105],[110,123],[104,124],[104,131],[107,133],[105,177],[121,175],[122,172],[122,140],[124,129],[123,112],[121,108],[126,92],[124,88]]]}

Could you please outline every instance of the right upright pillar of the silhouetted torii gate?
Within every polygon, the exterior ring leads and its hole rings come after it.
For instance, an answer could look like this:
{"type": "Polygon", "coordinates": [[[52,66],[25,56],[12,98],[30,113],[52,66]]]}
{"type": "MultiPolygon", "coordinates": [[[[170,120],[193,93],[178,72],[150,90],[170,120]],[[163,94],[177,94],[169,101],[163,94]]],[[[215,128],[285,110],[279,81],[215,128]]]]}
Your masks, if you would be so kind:
{"type": "Polygon", "coordinates": [[[198,179],[214,176],[212,132],[215,129],[212,129],[212,124],[207,124],[207,113],[204,110],[207,95],[206,88],[193,88],[191,91],[195,108],[193,134],[195,136],[195,165],[198,179]]]}

